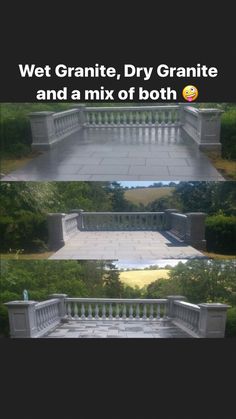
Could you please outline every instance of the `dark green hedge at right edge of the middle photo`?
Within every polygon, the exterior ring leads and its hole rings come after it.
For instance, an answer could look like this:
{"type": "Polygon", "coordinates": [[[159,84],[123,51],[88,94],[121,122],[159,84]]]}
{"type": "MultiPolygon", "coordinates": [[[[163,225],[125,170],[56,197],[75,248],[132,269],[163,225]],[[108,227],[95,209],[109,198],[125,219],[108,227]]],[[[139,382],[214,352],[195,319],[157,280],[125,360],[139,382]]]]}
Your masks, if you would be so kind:
{"type": "Polygon", "coordinates": [[[236,216],[213,215],[206,219],[207,251],[236,254],[236,216]]]}

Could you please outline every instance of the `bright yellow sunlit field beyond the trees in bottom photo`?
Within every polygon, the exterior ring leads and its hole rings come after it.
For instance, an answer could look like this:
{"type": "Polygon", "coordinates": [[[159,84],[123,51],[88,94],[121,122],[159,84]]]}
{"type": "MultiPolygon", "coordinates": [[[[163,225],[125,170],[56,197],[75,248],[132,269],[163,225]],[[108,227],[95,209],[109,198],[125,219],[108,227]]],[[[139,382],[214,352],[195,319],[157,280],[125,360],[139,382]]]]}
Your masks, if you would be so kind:
{"type": "Polygon", "coordinates": [[[168,278],[169,270],[168,269],[156,269],[148,271],[129,271],[121,272],[120,280],[123,284],[129,285],[130,287],[139,287],[142,288],[145,285],[149,285],[151,282],[156,281],[160,278],[168,278]]]}

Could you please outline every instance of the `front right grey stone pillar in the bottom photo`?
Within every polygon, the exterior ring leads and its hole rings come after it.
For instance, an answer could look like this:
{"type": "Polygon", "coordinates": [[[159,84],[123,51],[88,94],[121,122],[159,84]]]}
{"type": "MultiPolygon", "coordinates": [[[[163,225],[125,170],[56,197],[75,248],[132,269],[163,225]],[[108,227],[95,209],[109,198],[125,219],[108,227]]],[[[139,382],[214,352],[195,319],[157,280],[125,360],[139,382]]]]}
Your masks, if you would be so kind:
{"type": "Polygon", "coordinates": [[[203,338],[223,338],[229,306],[220,303],[198,305],[200,307],[199,335],[203,338]]]}

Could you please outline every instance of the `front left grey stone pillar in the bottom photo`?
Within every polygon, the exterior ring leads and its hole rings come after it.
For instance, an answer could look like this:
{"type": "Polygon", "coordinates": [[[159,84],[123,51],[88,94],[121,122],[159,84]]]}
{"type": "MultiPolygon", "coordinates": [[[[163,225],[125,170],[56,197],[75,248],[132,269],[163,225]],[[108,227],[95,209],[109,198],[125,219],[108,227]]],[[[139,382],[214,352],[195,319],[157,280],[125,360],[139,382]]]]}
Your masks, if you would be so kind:
{"type": "Polygon", "coordinates": [[[36,335],[36,301],[10,301],[8,308],[10,336],[12,338],[32,338],[36,335]]]}

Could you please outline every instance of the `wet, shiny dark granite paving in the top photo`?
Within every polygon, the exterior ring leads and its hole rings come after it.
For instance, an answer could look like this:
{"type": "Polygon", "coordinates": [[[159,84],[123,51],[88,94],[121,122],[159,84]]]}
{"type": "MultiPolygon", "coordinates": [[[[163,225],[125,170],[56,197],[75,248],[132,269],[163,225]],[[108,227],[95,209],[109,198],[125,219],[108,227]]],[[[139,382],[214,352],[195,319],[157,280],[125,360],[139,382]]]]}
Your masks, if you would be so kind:
{"type": "Polygon", "coordinates": [[[223,180],[175,127],[85,128],[2,180],[223,180]]]}

